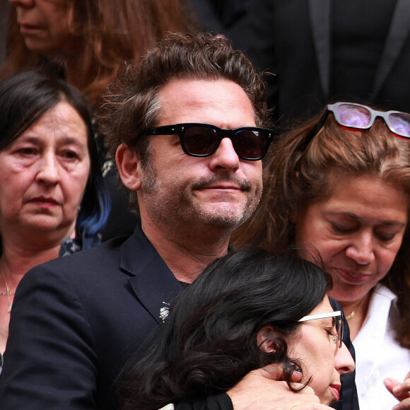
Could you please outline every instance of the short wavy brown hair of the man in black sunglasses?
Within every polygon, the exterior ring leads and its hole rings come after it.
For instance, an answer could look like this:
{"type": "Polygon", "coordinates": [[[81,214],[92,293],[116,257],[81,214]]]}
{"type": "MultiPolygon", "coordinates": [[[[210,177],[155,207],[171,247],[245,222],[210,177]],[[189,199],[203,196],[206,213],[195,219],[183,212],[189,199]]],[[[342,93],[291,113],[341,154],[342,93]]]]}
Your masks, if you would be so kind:
{"type": "MultiPolygon", "coordinates": [[[[159,90],[173,79],[228,80],[247,94],[258,127],[269,127],[266,86],[261,74],[245,54],[232,48],[229,40],[209,34],[170,34],[136,63],[124,66],[107,88],[100,111],[100,130],[109,154],[120,144],[133,146],[147,160],[150,137],[160,110],[159,90]]],[[[127,190],[131,207],[137,209],[136,193],[127,190]]]]}

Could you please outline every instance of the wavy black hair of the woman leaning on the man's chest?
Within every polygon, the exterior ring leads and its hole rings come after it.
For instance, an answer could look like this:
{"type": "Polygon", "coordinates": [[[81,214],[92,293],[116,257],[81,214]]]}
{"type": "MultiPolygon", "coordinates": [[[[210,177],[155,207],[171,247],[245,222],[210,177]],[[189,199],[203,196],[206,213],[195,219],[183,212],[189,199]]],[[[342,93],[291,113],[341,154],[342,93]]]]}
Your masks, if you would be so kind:
{"type": "Polygon", "coordinates": [[[251,370],[281,363],[291,385],[300,363],[287,356],[286,338],[324,298],[322,269],[291,253],[252,249],[213,262],[182,292],[154,332],[148,353],[122,384],[124,409],[158,409],[225,392],[251,370]],[[257,333],[271,325],[268,344],[257,333]]]}

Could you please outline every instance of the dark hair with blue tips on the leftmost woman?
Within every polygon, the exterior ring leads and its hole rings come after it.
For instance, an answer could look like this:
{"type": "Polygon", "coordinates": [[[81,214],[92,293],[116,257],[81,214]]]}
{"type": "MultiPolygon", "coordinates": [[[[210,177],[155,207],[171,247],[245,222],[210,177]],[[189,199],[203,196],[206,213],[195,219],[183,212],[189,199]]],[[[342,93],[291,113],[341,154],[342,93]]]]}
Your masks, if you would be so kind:
{"type": "Polygon", "coordinates": [[[81,93],[57,74],[22,71],[0,82],[0,151],[13,143],[59,102],[67,102],[87,129],[90,175],[81,201],[77,228],[93,234],[105,223],[110,205],[103,187],[88,105],[81,93]]]}

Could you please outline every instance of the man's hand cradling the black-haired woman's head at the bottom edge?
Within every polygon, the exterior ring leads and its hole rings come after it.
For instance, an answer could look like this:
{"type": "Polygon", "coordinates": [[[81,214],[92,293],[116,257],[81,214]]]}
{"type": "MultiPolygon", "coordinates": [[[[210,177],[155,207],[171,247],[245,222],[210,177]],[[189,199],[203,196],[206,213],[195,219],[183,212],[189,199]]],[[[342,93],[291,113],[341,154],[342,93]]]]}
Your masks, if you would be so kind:
{"type": "MultiPolygon", "coordinates": [[[[315,392],[305,387],[302,392],[294,393],[283,378],[281,365],[269,365],[253,370],[228,390],[234,410],[329,410],[320,404],[315,392]]],[[[295,374],[295,382],[300,381],[295,374]]],[[[299,387],[295,383],[295,387],[299,387]]]]}

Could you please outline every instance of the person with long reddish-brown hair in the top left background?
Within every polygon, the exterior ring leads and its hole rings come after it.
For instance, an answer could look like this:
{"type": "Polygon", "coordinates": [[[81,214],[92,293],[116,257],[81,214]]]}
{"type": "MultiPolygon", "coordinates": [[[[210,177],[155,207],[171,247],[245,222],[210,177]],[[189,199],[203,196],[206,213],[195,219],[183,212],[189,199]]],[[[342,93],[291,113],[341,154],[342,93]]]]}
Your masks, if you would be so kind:
{"type": "MultiPolygon", "coordinates": [[[[56,64],[95,110],[125,61],[138,61],[165,33],[196,30],[192,14],[180,0],[11,0],[9,8],[1,74],[56,64]]],[[[107,240],[131,234],[138,218],[118,187],[117,172],[112,170],[115,160],[106,158],[102,138],[97,144],[112,202],[101,232],[107,240]]]]}

